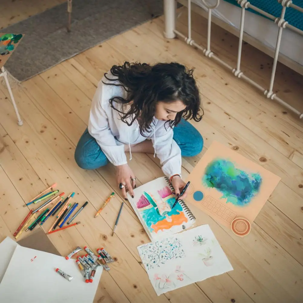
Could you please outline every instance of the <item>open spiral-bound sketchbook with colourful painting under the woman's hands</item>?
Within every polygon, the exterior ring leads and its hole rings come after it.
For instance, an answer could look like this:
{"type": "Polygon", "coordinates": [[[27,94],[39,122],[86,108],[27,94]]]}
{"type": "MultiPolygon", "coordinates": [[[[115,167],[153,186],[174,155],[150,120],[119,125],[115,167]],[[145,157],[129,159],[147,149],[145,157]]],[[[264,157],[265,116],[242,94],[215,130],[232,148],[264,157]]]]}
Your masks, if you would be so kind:
{"type": "Polygon", "coordinates": [[[174,208],[176,196],[167,177],[150,181],[134,189],[128,200],[151,240],[168,237],[192,226],[195,216],[183,200],[174,208]]]}

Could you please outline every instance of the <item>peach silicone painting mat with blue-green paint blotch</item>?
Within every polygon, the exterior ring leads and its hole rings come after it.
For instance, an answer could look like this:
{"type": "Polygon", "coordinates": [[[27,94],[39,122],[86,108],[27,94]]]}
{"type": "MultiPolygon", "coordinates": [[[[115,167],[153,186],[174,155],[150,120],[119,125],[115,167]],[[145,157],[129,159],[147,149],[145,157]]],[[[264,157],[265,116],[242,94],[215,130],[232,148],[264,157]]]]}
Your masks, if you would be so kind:
{"type": "Polygon", "coordinates": [[[186,201],[226,227],[236,217],[252,223],[280,180],[236,151],[213,142],[188,176],[191,184],[186,201]]]}

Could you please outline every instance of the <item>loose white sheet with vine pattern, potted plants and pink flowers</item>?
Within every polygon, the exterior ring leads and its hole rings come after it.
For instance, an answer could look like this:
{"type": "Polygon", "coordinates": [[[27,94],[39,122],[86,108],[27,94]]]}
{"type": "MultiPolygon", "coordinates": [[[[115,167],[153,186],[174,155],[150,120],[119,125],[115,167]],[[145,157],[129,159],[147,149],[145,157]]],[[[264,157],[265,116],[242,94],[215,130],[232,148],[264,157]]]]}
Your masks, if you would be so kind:
{"type": "Polygon", "coordinates": [[[138,246],[157,295],[233,270],[209,225],[138,246]]]}

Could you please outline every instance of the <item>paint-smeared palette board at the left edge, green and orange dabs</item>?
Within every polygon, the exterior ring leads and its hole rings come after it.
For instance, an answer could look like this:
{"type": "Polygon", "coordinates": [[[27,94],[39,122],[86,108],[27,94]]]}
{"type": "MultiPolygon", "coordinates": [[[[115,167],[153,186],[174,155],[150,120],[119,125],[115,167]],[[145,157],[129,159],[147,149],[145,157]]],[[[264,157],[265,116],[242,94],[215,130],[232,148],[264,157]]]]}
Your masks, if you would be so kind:
{"type": "Polygon", "coordinates": [[[23,34],[0,33],[0,68],[15,51],[23,36],[23,34]]]}

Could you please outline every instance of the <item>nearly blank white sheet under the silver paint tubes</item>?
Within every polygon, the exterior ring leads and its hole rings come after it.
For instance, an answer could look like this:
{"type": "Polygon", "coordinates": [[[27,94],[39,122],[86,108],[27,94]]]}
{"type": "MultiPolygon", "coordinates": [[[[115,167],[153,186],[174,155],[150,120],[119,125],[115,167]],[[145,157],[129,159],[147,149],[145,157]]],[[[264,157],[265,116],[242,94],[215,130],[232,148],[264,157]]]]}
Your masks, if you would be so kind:
{"type": "Polygon", "coordinates": [[[93,283],[85,283],[75,260],[17,246],[0,284],[0,302],[93,302],[101,274],[98,266],[93,283]],[[72,281],[56,268],[72,276],[72,281]]]}

